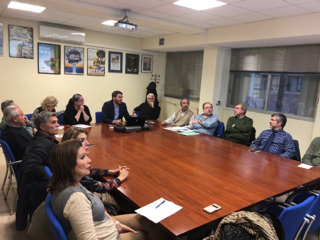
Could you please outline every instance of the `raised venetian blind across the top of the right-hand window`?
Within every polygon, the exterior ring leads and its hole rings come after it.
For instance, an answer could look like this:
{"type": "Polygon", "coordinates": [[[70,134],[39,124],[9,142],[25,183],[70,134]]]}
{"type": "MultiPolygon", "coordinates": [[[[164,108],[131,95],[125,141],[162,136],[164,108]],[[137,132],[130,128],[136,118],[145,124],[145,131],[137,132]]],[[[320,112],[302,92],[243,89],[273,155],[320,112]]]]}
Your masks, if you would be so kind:
{"type": "Polygon", "coordinates": [[[236,48],[230,70],[320,72],[320,45],[236,48]]]}

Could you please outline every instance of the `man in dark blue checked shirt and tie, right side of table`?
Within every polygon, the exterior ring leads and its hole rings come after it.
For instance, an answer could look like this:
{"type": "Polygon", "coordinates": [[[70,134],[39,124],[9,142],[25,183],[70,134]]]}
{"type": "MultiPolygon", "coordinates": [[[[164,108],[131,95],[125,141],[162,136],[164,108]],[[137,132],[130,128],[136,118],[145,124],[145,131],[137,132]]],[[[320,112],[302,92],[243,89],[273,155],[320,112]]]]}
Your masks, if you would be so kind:
{"type": "Polygon", "coordinates": [[[251,146],[259,150],[291,158],[295,147],[291,135],[283,130],[286,123],[285,115],[273,113],[269,123],[272,129],[262,131],[252,142],[251,146]]]}

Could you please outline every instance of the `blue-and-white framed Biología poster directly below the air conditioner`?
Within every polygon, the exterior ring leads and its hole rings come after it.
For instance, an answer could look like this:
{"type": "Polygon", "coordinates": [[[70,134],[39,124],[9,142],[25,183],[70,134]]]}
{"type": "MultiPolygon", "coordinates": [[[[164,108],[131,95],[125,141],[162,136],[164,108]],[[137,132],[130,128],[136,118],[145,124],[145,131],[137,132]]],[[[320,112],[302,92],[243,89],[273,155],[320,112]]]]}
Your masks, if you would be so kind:
{"type": "Polygon", "coordinates": [[[60,74],[60,45],[38,42],[38,73],[60,74]]]}

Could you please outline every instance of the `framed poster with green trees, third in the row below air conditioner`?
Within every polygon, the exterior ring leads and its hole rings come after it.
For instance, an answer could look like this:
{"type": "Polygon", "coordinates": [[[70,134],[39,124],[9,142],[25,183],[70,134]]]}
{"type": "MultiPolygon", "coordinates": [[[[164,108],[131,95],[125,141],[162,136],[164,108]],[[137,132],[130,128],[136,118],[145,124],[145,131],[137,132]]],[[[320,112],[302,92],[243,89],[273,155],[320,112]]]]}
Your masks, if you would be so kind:
{"type": "Polygon", "coordinates": [[[104,76],[105,50],[87,49],[87,70],[86,74],[91,76],[104,76]]]}

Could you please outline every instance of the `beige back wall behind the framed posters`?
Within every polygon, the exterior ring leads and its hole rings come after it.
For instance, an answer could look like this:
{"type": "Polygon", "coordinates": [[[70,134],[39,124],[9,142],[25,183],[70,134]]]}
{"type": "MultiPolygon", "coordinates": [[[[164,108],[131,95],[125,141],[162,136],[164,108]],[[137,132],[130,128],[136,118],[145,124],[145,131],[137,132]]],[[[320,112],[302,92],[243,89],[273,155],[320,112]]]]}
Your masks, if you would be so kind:
{"type": "MultiPolygon", "coordinates": [[[[4,23],[4,56],[0,57],[0,101],[13,99],[25,113],[32,113],[34,108],[38,107],[40,101],[47,95],[57,97],[59,102],[56,109],[62,110],[74,93],[80,93],[85,99],[85,104],[90,109],[93,118],[92,122],[94,122],[94,112],[101,111],[103,102],[111,99],[113,90],[123,92],[123,101],[126,102],[129,113],[132,112],[135,106],[144,101],[145,88],[151,81],[151,73],[141,73],[139,65],[139,74],[125,74],[125,60],[123,60],[123,73],[108,73],[106,70],[105,76],[87,76],[86,52],[88,45],[90,45],[89,47],[96,45],[105,49],[106,57],[108,50],[122,51],[123,58],[125,58],[126,52],[139,54],[140,59],[141,53],[151,54],[153,55],[153,74],[164,74],[164,54],[142,51],[140,38],[86,31],[85,41],[87,44],[74,45],[38,40],[38,24],[36,22],[4,17],[0,17],[0,22],[4,23]],[[33,59],[9,57],[7,24],[33,27],[33,59]],[[62,59],[64,45],[84,47],[84,75],[64,74],[62,61],[60,75],[37,73],[37,42],[60,44],[62,59]]],[[[0,116],[2,116],[1,112],[0,116]]]]}

